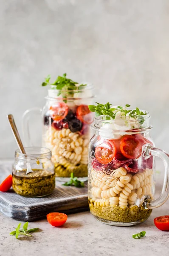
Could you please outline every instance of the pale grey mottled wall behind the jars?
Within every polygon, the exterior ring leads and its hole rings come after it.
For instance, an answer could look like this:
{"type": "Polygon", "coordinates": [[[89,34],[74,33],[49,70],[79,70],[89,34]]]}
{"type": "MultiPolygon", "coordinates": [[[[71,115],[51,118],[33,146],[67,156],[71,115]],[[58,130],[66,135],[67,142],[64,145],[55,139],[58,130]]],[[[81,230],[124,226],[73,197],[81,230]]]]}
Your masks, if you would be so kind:
{"type": "Polygon", "coordinates": [[[23,112],[45,103],[43,78],[65,72],[98,101],[148,110],[169,151],[168,0],[0,0],[0,158],[16,148],[6,115],[21,132],[23,112]]]}

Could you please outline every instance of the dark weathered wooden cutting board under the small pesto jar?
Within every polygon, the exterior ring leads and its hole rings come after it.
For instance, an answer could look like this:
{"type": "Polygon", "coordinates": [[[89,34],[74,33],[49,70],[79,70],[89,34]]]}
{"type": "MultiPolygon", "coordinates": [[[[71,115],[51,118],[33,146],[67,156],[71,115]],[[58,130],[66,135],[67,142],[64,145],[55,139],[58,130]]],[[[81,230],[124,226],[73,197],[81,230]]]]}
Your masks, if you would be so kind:
{"type": "MultiPolygon", "coordinates": [[[[11,167],[11,162],[0,162],[0,183],[11,173],[11,167]]],[[[0,192],[0,212],[19,221],[46,218],[49,212],[74,213],[88,209],[87,182],[84,188],[76,188],[56,181],[54,192],[43,198],[25,198],[13,189],[0,192]]]]}

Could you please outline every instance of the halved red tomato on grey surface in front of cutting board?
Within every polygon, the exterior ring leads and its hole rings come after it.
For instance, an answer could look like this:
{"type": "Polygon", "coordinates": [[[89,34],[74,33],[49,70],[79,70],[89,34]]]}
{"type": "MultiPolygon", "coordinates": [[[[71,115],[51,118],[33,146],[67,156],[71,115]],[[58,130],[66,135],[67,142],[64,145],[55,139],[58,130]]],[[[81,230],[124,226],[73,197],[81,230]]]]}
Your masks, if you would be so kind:
{"type": "Polygon", "coordinates": [[[59,212],[51,212],[46,217],[49,224],[51,224],[54,227],[62,226],[67,221],[67,218],[68,218],[68,216],[65,213],[59,213],[59,212]]]}

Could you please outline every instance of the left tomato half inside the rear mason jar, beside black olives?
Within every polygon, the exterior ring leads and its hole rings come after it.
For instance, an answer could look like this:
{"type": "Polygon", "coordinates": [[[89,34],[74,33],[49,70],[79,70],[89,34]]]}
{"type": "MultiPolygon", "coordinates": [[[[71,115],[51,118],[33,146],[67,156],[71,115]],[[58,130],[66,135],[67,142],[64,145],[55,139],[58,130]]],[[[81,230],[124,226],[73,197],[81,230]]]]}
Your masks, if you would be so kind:
{"type": "Polygon", "coordinates": [[[65,102],[57,102],[54,106],[50,107],[51,118],[59,121],[65,118],[68,114],[68,106],[65,102]]]}

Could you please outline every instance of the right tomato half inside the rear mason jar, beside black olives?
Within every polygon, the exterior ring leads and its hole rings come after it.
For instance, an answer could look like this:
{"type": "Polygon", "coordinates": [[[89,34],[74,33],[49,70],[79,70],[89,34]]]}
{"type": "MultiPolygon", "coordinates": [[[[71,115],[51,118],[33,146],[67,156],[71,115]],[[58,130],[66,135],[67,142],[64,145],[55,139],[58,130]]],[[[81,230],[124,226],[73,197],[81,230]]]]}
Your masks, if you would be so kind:
{"type": "Polygon", "coordinates": [[[77,107],[76,116],[81,122],[85,124],[91,124],[93,122],[93,114],[87,105],[80,105],[77,107]]]}

